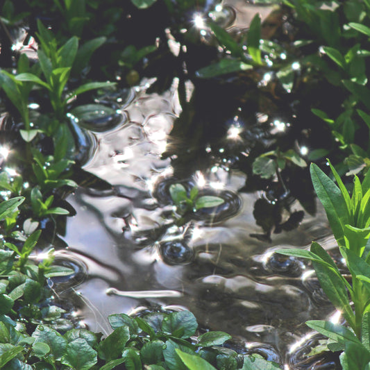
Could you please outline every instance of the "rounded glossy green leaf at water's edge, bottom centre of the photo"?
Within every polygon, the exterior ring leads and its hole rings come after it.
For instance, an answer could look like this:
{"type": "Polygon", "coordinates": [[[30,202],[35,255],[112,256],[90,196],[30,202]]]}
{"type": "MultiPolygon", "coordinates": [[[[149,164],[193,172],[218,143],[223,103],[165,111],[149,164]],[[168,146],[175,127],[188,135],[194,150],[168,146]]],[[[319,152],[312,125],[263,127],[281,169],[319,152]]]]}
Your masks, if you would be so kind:
{"type": "Polygon", "coordinates": [[[198,323],[194,314],[190,311],[172,312],[163,319],[162,323],[163,333],[184,339],[194,335],[196,328],[198,328],[198,323]],[[180,333],[180,336],[176,335],[176,333],[180,333]]]}

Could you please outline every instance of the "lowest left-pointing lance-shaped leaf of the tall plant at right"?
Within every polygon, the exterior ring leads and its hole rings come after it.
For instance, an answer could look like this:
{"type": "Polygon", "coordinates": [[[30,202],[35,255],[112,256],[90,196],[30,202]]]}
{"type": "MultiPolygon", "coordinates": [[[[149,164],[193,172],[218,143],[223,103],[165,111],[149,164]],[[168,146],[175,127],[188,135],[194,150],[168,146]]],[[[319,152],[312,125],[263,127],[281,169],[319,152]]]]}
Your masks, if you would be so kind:
{"type": "Polygon", "coordinates": [[[322,335],[333,339],[335,342],[342,344],[351,342],[358,346],[362,346],[360,340],[358,340],[351,330],[347,329],[345,326],[339,325],[339,323],[332,323],[330,321],[323,320],[310,320],[306,321],[306,325],[322,335]]]}

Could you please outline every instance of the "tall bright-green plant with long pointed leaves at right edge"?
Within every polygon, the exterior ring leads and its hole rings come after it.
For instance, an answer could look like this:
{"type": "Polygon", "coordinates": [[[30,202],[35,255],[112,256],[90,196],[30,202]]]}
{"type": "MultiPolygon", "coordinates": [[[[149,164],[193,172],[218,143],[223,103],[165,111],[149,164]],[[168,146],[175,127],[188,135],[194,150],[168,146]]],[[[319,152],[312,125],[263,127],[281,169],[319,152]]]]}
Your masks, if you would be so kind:
{"type": "Polygon", "coordinates": [[[308,321],[310,328],[332,340],[331,351],[344,351],[343,369],[367,369],[370,366],[370,173],[362,183],[354,176],[352,195],[348,193],[335,168],[328,162],[337,185],[312,164],[312,183],[326,215],[339,250],[351,274],[348,282],[328,253],[317,242],[310,251],[280,249],[277,253],[312,261],[317,278],[335,308],[351,328],[328,321],[308,321]],[[350,299],[353,305],[351,304],[350,299]]]}

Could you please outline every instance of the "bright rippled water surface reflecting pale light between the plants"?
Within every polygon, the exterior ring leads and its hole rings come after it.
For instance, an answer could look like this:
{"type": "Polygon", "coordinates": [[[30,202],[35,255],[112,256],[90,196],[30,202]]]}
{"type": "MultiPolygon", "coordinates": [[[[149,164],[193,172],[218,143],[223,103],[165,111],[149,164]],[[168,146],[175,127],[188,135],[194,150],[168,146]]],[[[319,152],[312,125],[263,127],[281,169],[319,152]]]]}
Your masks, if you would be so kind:
{"type": "MultiPolygon", "coordinates": [[[[69,249],[58,258],[87,272],[85,280],[77,273],[74,280],[76,314],[107,333],[108,314],[186,308],[201,326],[233,335],[239,352],[304,368],[302,353],[310,352],[314,336],[303,323],[324,319],[333,308],[306,262],[274,250],[326,237],[323,210],[317,205],[316,215],[305,213],[298,228],[274,234],[271,242],[257,239],[251,236],[260,233],[253,207],[262,194],[238,192],[246,175],[237,168],[212,165],[191,180],[171,178],[171,158],[161,153],[172,144],[167,135],[180,114],[176,88],[159,96],[142,87],[121,109],[120,124],[95,133],[99,144],[85,165],[112,190],[80,188],[67,199],[76,216],[67,221],[69,249]],[[176,226],[168,194],[175,181],[198,183],[226,202],[176,226]]],[[[292,202],[292,210],[303,210],[292,202]]],[[[323,241],[327,249],[335,246],[333,239],[323,241]]],[[[70,295],[65,283],[58,284],[61,295],[70,295]]],[[[329,368],[320,367],[321,358],[312,361],[314,369],[329,368]]]]}

